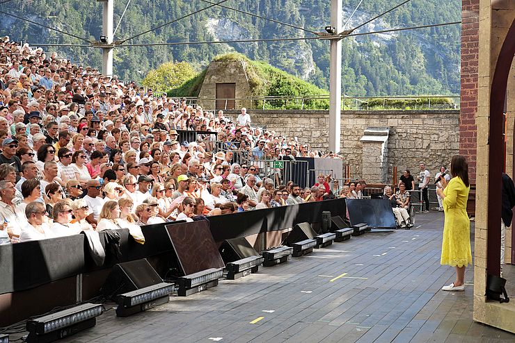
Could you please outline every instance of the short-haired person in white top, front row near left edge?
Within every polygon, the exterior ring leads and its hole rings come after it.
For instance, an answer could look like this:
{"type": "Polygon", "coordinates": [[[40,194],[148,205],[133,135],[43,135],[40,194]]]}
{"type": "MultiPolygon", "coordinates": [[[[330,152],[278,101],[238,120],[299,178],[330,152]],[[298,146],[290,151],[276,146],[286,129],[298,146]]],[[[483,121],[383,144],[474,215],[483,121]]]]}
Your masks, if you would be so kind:
{"type": "Polygon", "coordinates": [[[22,228],[22,233],[19,235],[20,242],[29,242],[31,240],[46,240],[53,238],[54,233],[45,223],[47,210],[45,204],[40,201],[32,201],[28,203],[25,208],[25,215],[29,223],[22,228]]]}

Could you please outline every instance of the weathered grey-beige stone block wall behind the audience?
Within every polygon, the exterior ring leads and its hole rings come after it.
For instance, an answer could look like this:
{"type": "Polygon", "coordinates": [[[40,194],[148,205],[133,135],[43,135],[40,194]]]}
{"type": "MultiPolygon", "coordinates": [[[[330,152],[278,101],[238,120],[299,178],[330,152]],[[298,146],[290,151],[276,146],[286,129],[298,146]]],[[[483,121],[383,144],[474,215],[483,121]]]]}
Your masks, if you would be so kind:
{"type": "MultiPolygon", "coordinates": [[[[238,111],[227,114],[236,119],[238,111]]],[[[287,137],[298,137],[313,149],[326,151],[328,147],[328,112],[301,110],[248,110],[253,123],[266,126],[287,137]]],[[[351,177],[362,173],[363,144],[366,128],[389,127],[388,181],[393,167],[399,173],[411,169],[418,174],[418,165],[425,162],[431,174],[440,165],[448,166],[452,155],[459,152],[459,111],[342,111],[341,155],[349,164],[351,177]]],[[[398,175],[400,176],[400,174],[398,175]]],[[[398,177],[397,176],[397,177],[398,177]]]]}

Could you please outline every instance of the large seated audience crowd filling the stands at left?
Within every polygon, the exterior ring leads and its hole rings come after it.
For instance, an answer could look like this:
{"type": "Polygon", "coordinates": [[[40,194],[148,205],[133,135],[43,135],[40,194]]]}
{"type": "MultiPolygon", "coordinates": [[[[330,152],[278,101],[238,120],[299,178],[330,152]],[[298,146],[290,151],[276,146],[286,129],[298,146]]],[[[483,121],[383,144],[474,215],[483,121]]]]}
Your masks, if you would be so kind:
{"type": "Polygon", "coordinates": [[[144,242],[144,225],[359,197],[363,185],[264,175],[256,161],[340,156],[253,126],[246,108],[233,120],[8,37],[0,142],[1,243],[117,228],[144,242]]]}

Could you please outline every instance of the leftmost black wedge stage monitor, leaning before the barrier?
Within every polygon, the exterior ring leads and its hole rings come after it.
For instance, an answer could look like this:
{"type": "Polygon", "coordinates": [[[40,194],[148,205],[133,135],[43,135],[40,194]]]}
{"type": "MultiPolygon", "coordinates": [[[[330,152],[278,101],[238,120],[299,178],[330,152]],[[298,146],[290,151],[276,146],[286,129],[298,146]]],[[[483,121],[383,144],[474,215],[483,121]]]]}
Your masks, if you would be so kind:
{"type": "Polygon", "coordinates": [[[163,279],[157,271],[143,258],[115,265],[101,292],[106,299],[113,299],[117,294],[132,292],[162,282],[163,279]]]}

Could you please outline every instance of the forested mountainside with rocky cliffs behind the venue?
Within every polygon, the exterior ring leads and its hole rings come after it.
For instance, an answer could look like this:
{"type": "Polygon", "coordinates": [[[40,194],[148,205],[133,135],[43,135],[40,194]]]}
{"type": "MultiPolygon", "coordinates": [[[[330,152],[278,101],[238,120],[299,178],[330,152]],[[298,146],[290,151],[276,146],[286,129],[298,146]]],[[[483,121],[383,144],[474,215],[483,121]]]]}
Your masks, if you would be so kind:
{"type": "MultiPolygon", "coordinates": [[[[271,17],[280,22],[323,31],[329,23],[329,0],[228,1],[224,5],[271,17]]],[[[343,0],[344,22],[359,1],[343,0]]],[[[396,1],[398,3],[400,1],[396,1]]],[[[115,26],[126,1],[115,1],[115,26]]],[[[102,3],[78,0],[10,1],[3,10],[68,33],[97,40],[102,26],[102,3]]],[[[116,32],[123,40],[149,28],[209,6],[201,0],[132,1],[116,32]]],[[[351,20],[356,26],[394,6],[386,0],[363,1],[351,20]]],[[[358,32],[422,24],[454,22],[461,17],[461,1],[413,0],[358,32]]],[[[24,42],[83,44],[74,37],[0,17],[0,35],[24,42]],[[15,28],[15,29],[13,29],[15,28]]],[[[127,41],[132,44],[198,42],[235,39],[307,37],[311,33],[251,17],[225,8],[210,8],[174,24],[127,41]]],[[[443,26],[395,35],[365,35],[342,42],[342,86],[350,96],[459,93],[460,27],[443,26]]],[[[238,52],[251,60],[299,76],[328,89],[329,43],[326,40],[253,42],[230,44],[184,44],[173,46],[123,47],[116,49],[115,72],[120,78],[141,81],[152,68],[166,61],[191,63],[198,72],[216,56],[238,52]]],[[[60,47],[56,51],[74,62],[100,67],[98,49],[60,47]]],[[[52,51],[52,50],[50,50],[52,51]]]]}

